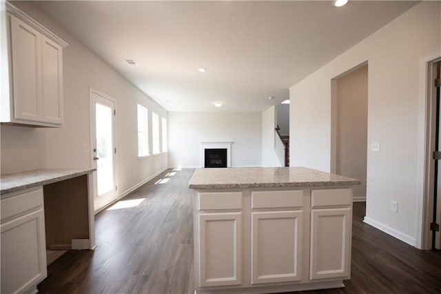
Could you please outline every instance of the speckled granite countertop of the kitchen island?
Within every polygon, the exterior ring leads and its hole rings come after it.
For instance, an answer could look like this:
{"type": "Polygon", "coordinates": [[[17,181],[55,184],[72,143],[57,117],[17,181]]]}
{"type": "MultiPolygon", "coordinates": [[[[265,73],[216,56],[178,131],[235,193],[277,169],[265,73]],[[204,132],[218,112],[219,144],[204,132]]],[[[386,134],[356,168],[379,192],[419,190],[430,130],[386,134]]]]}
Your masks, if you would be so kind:
{"type": "Polygon", "coordinates": [[[189,188],[272,188],[304,186],[354,186],[360,180],[304,167],[198,168],[189,188]]]}

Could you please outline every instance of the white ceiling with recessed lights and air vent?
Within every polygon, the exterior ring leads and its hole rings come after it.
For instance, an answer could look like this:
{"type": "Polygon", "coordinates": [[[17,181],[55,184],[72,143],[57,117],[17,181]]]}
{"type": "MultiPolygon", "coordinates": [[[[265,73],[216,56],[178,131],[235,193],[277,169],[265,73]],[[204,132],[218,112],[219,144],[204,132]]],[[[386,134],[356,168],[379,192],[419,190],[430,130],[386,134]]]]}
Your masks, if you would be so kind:
{"type": "Polygon", "coordinates": [[[416,1],[38,1],[169,111],[262,111],[416,1]],[[134,59],[139,66],[128,66],[134,59]],[[198,72],[198,68],[207,68],[198,72]],[[274,99],[268,99],[274,97],[274,99]],[[212,102],[223,101],[215,108],[212,102]]]}

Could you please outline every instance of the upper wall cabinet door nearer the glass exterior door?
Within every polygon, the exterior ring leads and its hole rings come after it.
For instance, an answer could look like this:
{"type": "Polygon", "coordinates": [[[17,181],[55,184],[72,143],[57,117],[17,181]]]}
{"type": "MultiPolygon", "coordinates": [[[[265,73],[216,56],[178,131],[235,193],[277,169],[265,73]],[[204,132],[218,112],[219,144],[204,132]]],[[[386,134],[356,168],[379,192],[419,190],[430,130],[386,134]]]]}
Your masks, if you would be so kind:
{"type": "Polygon", "coordinates": [[[43,120],[63,122],[63,55],[62,48],[42,36],[43,120]]]}

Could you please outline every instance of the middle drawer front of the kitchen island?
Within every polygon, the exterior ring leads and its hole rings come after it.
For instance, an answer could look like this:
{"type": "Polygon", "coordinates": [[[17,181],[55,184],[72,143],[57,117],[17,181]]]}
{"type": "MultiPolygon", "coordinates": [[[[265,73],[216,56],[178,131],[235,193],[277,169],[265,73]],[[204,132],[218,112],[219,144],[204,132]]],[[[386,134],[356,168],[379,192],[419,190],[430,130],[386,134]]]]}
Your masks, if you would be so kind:
{"type": "Polygon", "coordinates": [[[254,191],[251,208],[294,208],[303,206],[303,190],[254,191]]]}

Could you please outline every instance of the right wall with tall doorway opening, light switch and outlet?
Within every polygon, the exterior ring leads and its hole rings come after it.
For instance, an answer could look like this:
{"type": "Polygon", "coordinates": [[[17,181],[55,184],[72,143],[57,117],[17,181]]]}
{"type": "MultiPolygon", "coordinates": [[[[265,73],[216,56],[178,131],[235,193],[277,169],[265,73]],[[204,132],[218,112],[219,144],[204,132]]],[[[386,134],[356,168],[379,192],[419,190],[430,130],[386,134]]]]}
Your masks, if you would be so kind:
{"type": "Polygon", "coordinates": [[[290,89],[291,163],[330,170],[331,79],[368,61],[365,221],[415,244],[420,59],[440,52],[440,2],[423,1],[290,89]],[[398,213],[390,210],[398,202],[398,213]]]}

